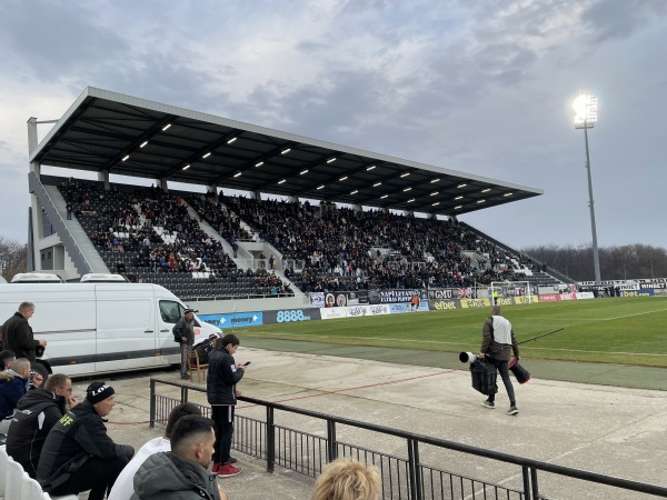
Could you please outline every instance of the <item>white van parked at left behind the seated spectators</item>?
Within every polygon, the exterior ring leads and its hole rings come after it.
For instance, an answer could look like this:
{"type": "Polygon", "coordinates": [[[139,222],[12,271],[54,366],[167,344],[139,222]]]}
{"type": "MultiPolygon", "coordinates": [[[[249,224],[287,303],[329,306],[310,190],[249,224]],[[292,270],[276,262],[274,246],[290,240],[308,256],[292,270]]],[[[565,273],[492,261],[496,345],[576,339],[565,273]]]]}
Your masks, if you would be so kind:
{"type": "MultiPolygon", "coordinates": [[[[179,364],[171,329],[186,306],[152,283],[0,284],[0,324],[23,301],[34,303],[30,326],[48,342],[41,362],[70,377],[179,364]]],[[[220,330],[195,317],[195,343],[220,330]]]]}

